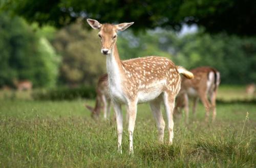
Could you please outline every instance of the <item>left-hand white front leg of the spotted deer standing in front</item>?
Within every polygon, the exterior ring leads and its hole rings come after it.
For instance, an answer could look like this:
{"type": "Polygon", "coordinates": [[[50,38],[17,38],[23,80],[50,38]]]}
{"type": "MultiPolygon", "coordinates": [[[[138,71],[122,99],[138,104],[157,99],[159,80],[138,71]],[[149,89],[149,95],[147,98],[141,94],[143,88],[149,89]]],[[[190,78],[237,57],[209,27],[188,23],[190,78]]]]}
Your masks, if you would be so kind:
{"type": "Polygon", "coordinates": [[[114,110],[116,112],[118,152],[122,153],[123,115],[122,115],[121,105],[114,102],[113,102],[113,105],[114,105],[114,110]]]}

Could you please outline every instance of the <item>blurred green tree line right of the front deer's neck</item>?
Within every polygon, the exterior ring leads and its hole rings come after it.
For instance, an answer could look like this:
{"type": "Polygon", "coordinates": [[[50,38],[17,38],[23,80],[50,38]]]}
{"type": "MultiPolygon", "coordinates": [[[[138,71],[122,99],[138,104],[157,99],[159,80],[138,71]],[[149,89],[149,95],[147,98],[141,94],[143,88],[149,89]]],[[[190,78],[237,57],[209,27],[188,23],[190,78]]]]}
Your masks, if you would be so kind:
{"type": "Polygon", "coordinates": [[[220,70],[222,83],[246,84],[256,81],[256,38],[210,35],[199,31],[177,36],[166,30],[147,31],[136,36],[123,32],[118,41],[123,59],[158,55],[188,69],[212,66],[220,70]]]}

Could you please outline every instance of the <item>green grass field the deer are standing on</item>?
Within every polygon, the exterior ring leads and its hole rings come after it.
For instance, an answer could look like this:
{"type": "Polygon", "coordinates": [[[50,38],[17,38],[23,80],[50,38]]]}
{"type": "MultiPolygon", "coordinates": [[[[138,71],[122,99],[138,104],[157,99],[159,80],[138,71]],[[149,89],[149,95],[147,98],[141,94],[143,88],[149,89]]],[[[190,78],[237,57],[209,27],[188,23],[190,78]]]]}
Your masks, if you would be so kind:
{"type": "MultiPolygon", "coordinates": [[[[220,89],[220,95],[225,91],[230,90],[220,89]]],[[[197,116],[189,118],[189,125],[184,124],[184,116],[179,121],[175,119],[172,146],[157,142],[150,108],[139,105],[135,155],[129,156],[127,123],[124,122],[123,154],[118,154],[113,110],[111,119],[96,122],[84,108],[85,102],[94,104],[94,100],[1,99],[0,167],[256,166],[255,104],[219,104],[217,121],[211,124],[203,122],[200,104],[197,116]]],[[[165,141],[166,135],[165,130],[165,141]]]]}

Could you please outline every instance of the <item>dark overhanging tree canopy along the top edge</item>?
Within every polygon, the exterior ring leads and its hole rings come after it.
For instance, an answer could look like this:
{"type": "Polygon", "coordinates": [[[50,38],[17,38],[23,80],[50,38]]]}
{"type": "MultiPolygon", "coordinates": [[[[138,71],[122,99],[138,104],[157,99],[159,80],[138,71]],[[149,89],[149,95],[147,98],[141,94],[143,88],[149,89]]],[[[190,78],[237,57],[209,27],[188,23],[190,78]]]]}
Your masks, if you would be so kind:
{"type": "Polygon", "coordinates": [[[180,30],[181,25],[196,23],[209,33],[256,34],[254,0],[13,0],[3,1],[2,10],[24,16],[40,25],[62,27],[77,17],[101,22],[135,21],[133,29],[156,27],[180,30]]]}

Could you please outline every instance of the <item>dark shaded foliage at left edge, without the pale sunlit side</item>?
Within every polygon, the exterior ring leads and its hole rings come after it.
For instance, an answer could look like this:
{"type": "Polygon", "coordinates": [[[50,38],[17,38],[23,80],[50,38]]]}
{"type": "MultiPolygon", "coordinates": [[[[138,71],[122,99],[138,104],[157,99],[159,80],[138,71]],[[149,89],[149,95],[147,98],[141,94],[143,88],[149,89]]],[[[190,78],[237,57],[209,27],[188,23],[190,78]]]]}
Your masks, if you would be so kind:
{"type": "Polygon", "coordinates": [[[14,78],[31,80],[35,76],[35,69],[30,67],[38,64],[33,59],[37,43],[37,37],[24,20],[0,15],[0,86],[11,85],[14,78]]]}

